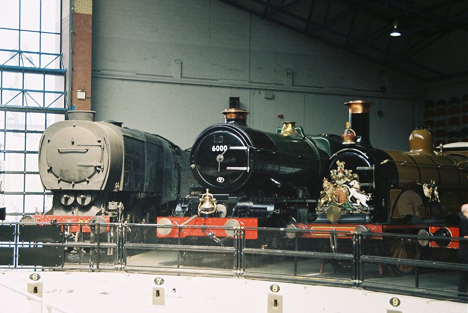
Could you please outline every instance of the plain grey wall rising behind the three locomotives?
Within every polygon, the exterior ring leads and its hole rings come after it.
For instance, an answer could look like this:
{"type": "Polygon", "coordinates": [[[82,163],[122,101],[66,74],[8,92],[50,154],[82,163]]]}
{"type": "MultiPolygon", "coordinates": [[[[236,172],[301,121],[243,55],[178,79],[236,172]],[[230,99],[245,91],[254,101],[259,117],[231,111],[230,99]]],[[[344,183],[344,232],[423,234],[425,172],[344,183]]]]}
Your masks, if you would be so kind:
{"type": "Polygon", "coordinates": [[[423,122],[419,81],[217,0],[93,5],[97,119],[188,148],[201,130],[223,121],[229,97],[240,97],[253,128],[274,131],[294,120],[308,134],[341,134],[343,103],[368,100],[375,103],[372,144],[400,150],[423,122]]]}

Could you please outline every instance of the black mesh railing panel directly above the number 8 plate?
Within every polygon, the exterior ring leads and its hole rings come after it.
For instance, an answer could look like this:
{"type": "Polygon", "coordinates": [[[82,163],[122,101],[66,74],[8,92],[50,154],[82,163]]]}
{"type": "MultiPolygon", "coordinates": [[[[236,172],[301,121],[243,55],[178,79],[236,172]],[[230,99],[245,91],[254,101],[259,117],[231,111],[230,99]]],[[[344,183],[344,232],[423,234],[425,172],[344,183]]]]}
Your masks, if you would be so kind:
{"type": "Polygon", "coordinates": [[[244,276],[294,275],[348,284],[355,273],[351,238],[342,232],[258,229],[257,240],[243,241],[244,276]]]}

